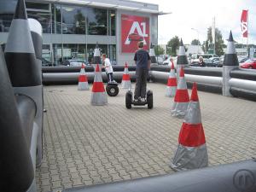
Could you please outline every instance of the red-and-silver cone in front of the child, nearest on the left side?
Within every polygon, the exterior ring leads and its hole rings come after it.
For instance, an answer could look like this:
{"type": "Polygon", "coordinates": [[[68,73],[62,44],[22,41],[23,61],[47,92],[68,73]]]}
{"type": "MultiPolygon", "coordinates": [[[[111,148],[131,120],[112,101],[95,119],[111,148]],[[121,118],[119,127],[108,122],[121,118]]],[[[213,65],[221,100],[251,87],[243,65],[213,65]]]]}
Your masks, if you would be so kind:
{"type": "Polygon", "coordinates": [[[108,97],[105,92],[104,84],[102,83],[102,73],[100,72],[100,67],[96,65],[96,73],[94,77],[94,82],[92,85],[92,94],[90,103],[92,105],[106,105],[108,104],[108,97]]]}

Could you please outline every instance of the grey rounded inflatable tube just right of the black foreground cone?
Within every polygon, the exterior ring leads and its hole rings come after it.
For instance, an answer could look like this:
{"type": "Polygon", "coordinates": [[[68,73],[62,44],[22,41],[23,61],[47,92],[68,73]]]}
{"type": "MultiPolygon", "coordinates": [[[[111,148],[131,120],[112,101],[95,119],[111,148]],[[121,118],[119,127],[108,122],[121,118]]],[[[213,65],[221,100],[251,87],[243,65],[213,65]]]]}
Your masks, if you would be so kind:
{"type": "Polygon", "coordinates": [[[28,148],[31,146],[33,123],[36,116],[36,103],[28,96],[15,96],[18,111],[20,113],[21,128],[26,137],[28,148]]]}

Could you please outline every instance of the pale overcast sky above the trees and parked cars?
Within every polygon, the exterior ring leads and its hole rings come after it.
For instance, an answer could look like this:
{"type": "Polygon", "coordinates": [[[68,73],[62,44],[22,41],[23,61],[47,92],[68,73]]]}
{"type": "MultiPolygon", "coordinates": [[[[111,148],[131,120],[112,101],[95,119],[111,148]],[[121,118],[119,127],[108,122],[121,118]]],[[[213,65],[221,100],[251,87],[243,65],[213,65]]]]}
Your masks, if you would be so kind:
{"type": "MultiPolygon", "coordinates": [[[[223,38],[229,37],[230,30],[238,43],[246,44],[241,37],[241,11],[248,9],[249,44],[256,44],[256,0],[137,0],[144,3],[159,4],[159,10],[172,12],[171,15],[159,16],[159,44],[166,44],[177,35],[184,44],[190,44],[197,38],[207,39],[207,28],[215,26],[222,32],[223,38]],[[191,30],[195,28],[195,30],[191,30]]],[[[226,41],[224,41],[226,44],[226,41]]]]}

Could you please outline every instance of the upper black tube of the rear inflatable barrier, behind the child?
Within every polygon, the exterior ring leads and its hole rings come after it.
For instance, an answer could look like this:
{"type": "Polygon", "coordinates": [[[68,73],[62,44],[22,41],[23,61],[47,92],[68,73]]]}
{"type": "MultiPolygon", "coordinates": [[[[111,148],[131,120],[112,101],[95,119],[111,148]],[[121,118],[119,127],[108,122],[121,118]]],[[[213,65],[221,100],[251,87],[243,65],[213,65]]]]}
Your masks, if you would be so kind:
{"type": "MultiPolygon", "coordinates": [[[[113,72],[124,72],[125,66],[112,66],[113,72]]],[[[42,67],[43,73],[79,73],[81,67],[67,67],[67,66],[60,66],[60,67],[42,67]]],[[[129,71],[135,71],[135,66],[129,66],[129,71]]],[[[93,66],[86,66],[85,72],[94,72],[93,66]]],[[[102,68],[102,72],[105,72],[105,69],[102,68]]]]}

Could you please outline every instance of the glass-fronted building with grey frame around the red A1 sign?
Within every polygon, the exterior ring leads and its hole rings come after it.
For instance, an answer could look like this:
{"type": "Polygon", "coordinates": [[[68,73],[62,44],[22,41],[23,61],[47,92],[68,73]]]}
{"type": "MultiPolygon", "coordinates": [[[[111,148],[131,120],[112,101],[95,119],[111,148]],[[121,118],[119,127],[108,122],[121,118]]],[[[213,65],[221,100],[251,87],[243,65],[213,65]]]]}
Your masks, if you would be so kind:
{"type": "MultiPolygon", "coordinates": [[[[113,64],[118,62],[124,64],[125,61],[133,64],[132,53],[120,51],[122,14],[148,17],[150,41],[157,44],[158,15],[155,12],[154,14],[148,12],[148,10],[158,12],[157,5],[135,2],[133,4],[131,1],[123,0],[118,1],[121,7],[119,9],[114,4],[115,1],[97,0],[96,2],[102,2],[97,5],[93,5],[94,2],[76,4],[73,3],[74,1],[26,0],[28,18],[38,20],[43,27],[43,58],[46,66],[59,66],[63,61],[70,59],[90,63],[96,44],[99,45],[102,53],[108,55],[113,64]],[[128,4],[136,11],[138,6],[144,9],[145,5],[152,6],[152,9],[134,12],[128,4]],[[129,9],[125,10],[125,6],[129,9]]],[[[4,44],[7,40],[16,3],[17,0],[0,0],[0,44],[4,44]]]]}

